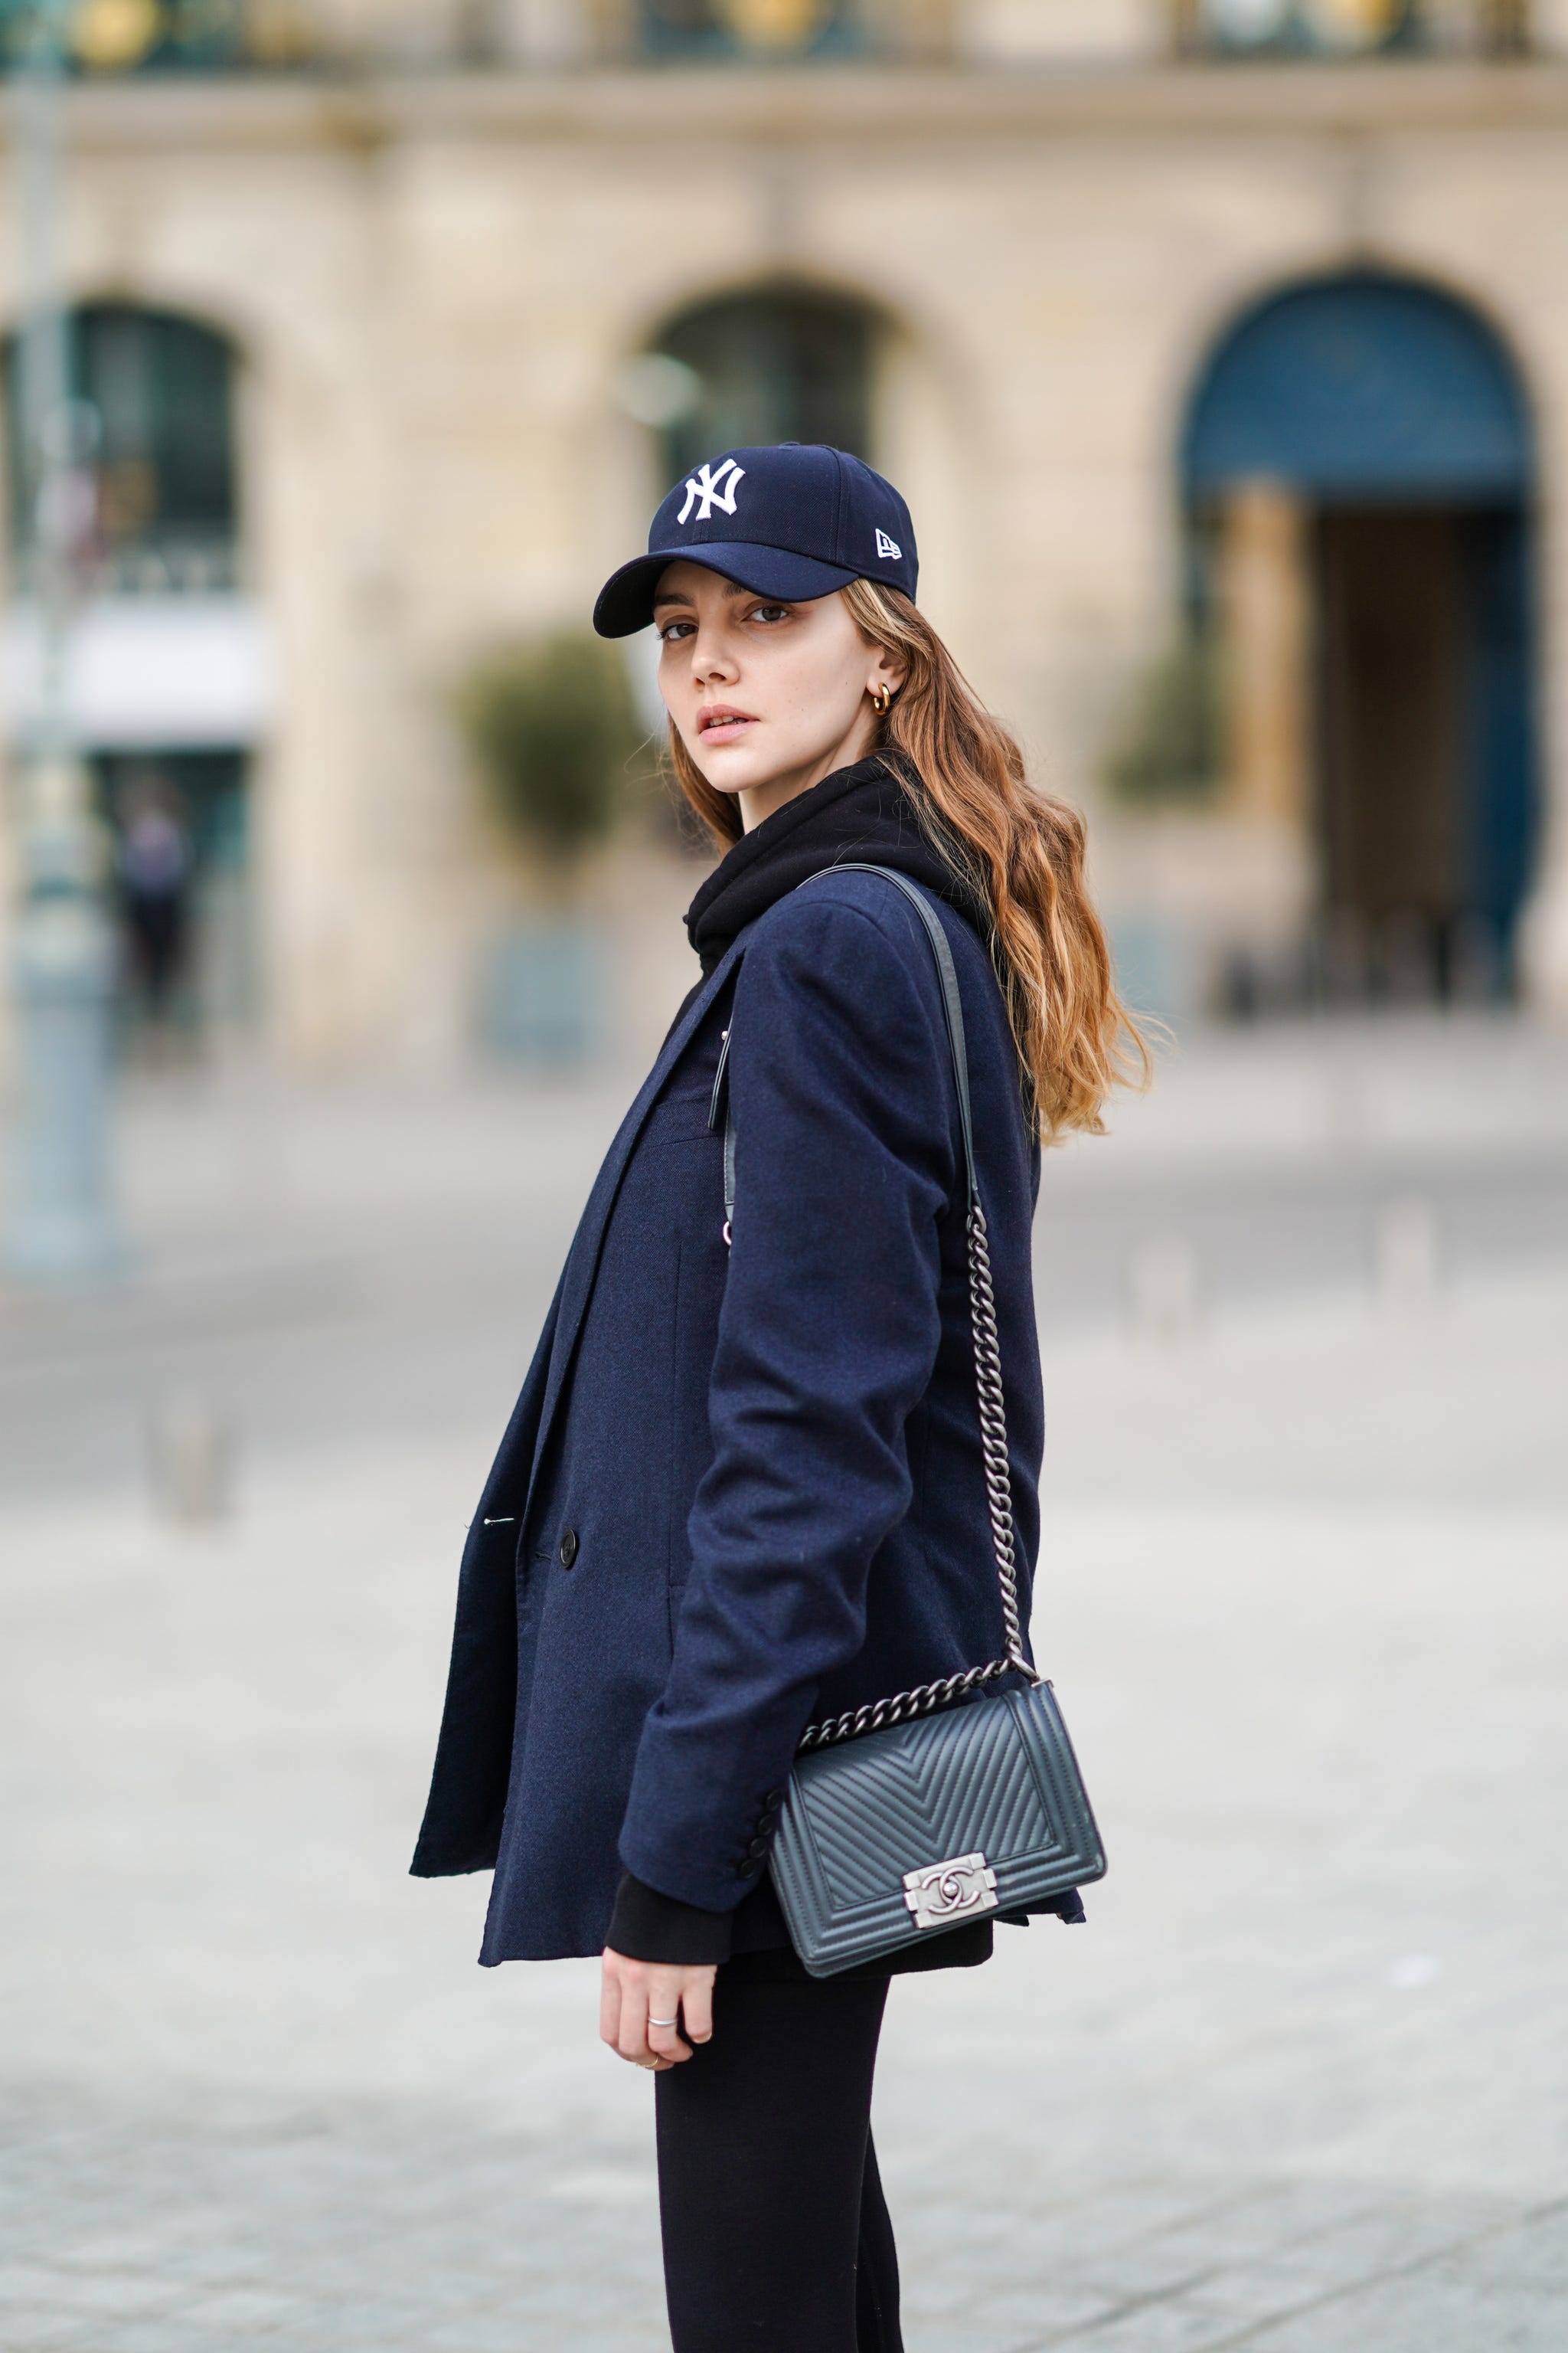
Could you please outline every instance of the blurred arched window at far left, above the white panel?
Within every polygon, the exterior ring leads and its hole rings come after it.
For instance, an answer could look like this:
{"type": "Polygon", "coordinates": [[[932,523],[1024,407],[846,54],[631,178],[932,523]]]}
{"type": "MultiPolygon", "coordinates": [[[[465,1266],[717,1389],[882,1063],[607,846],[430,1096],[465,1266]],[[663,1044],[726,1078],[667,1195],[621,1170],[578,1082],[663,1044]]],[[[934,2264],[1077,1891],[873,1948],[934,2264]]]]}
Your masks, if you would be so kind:
{"type": "MultiPolygon", "coordinates": [[[[12,541],[35,544],[21,344],[5,353],[12,541]]],[[[235,355],[190,318],[87,304],[68,322],[68,431],[82,482],[80,562],[108,591],[233,584],[235,355]]]]}

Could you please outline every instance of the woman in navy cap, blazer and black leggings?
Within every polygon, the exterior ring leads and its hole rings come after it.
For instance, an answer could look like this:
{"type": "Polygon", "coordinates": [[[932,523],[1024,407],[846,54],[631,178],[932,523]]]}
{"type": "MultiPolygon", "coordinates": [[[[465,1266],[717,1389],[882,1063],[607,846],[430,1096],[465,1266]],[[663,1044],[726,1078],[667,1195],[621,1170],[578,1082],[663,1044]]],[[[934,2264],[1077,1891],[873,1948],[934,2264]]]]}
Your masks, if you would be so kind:
{"type": "MultiPolygon", "coordinates": [[[[806,1977],[764,1866],[811,1718],[999,1649],[938,976],[903,894],[835,868],[924,885],[957,962],[1025,1577],[1039,1141],[1143,1056],[1081,821],[914,581],[898,492],[788,442],[677,485],[595,607],[658,628],[675,774],[733,847],[480,1501],[414,1859],[494,1866],[484,1962],[602,1951],[602,2035],[658,2075],[675,2353],[900,2346],[870,2144],[900,1972],[806,1977]]],[[[971,1920],[900,1967],[990,1946],[971,1920]]]]}

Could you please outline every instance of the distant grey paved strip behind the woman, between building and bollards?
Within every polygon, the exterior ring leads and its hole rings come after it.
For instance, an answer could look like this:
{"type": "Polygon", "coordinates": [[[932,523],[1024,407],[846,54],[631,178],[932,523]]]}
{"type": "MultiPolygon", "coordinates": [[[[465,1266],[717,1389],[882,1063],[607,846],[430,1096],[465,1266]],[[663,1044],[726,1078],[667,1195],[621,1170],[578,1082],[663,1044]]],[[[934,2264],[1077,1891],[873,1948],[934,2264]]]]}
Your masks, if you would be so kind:
{"type": "MultiPolygon", "coordinates": [[[[169,1391],[233,1414],[247,1454],[496,1428],[637,1078],[237,1066],[132,1089],[125,1278],[75,1301],[0,1282],[0,1494],[139,1480],[169,1391]]],[[[1197,1035],[1112,1125],[1046,1162],[1058,1339],[1117,1322],[1140,1252],[1171,1242],[1220,1315],[1363,1301],[1399,1205],[1427,1212],[1443,1280],[1568,1261],[1568,1035],[1500,1016],[1197,1035]]]]}

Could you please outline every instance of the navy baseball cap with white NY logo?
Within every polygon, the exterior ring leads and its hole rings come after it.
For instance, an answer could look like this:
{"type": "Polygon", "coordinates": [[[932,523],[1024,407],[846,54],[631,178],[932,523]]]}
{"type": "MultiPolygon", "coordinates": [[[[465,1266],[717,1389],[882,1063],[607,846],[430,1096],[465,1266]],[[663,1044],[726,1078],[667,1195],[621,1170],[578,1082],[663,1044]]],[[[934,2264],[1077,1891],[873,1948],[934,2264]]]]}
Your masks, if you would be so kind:
{"type": "Polygon", "coordinates": [[[649,553],[632,555],[599,588],[599,635],[646,628],[658,574],[682,558],[788,605],[856,579],[912,598],[919,576],[914,525],[893,485],[825,442],[726,449],[677,482],[654,515],[649,553]]]}

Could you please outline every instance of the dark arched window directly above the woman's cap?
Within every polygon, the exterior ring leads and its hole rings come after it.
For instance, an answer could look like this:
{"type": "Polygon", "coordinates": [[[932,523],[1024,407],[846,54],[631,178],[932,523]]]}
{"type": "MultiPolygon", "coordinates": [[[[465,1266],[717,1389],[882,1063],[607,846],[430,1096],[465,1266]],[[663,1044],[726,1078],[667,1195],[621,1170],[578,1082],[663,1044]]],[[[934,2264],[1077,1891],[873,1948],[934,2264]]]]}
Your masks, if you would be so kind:
{"type": "Polygon", "coordinates": [[[748,442],[870,456],[875,346],[875,315],[842,294],[731,294],[672,320],[658,351],[632,362],[628,407],[661,428],[670,482],[748,442]]]}

